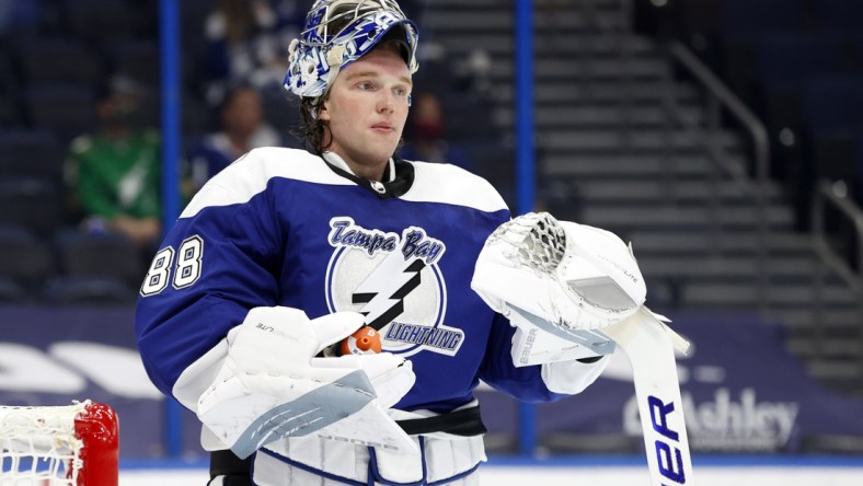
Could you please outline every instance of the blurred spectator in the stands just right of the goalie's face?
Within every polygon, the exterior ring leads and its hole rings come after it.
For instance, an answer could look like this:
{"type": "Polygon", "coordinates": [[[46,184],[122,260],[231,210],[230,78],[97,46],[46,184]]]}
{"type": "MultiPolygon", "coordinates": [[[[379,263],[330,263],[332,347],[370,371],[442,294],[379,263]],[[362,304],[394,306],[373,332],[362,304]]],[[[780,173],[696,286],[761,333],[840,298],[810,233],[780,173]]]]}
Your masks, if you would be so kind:
{"type": "Polygon", "coordinates": [[[416,93],[401,155],[407,160],[448,162],[471,170],[467,152],[445,137],[446,119],[440,99],[430,91],[416,93]]]}

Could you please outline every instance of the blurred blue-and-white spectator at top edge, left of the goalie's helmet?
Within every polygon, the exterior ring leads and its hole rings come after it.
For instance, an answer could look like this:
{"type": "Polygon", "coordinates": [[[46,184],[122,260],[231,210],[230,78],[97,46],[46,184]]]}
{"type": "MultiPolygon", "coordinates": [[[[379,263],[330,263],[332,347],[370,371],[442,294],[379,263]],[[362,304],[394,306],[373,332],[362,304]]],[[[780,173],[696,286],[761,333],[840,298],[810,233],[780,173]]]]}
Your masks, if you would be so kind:
{"type": "Polygon", "coordinates": [[[280,89],[288,60],[284,46],[298,35],[300,14],[296,0],[217,0],[204,26],[207,100],[217,104],[237,81],[280,89]]]}

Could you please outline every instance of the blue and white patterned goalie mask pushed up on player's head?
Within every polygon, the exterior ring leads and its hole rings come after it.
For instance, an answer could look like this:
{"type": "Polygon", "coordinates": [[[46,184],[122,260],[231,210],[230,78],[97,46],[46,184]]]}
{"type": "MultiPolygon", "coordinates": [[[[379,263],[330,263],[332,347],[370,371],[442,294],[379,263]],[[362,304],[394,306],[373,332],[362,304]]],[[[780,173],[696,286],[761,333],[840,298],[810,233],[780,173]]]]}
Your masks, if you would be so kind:
{"type": "Polygon", "coordinates": [[[394,0],[317,0],[300,38],[288,47],[284,86],[301,97],[322,96],[340,69],[390,36],[404,42],[405,61],[411,73],[416,72],[417,28],[394,0]]]}

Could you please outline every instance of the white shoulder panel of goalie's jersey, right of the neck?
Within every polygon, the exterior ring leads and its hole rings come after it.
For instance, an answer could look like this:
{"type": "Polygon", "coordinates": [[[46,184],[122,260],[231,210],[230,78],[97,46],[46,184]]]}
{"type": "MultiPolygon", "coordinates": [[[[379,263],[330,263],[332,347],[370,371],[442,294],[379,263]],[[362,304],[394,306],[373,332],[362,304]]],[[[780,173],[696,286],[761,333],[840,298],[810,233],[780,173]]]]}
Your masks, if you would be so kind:
{"type": "Polygon", "coordinates": [[[415,178],[404,200],[442,202],[465,206],[485,212],[507,209],[497,189],[483,177],[458,165],[435,162],[415,162],[415,178]]]}

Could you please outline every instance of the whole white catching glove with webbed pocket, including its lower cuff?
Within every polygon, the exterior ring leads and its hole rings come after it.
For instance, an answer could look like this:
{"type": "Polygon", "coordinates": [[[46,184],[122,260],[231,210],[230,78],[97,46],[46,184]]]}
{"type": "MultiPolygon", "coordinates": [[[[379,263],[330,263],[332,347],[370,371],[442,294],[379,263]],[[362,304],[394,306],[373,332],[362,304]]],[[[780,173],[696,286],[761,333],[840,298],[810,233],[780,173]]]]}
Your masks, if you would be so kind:
{"type": "Polygon", "coordinates": [[[632,248],[599,228],[527,213],[492,233],[471,287],[517,327],[516,366],[609,355],[597,332],[633,315],[646,287],[632,248]]]}

